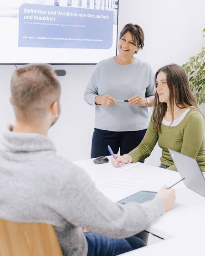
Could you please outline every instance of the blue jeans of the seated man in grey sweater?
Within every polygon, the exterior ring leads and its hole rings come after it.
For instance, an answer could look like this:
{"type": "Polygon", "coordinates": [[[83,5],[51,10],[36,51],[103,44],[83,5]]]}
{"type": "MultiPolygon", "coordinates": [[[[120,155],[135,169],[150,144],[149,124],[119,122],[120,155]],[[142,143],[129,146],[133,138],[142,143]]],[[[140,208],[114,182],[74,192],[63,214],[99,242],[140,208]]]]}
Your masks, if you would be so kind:
{"type": "Polygon", "coordinates": [[[144,241],[135,236],[116,239],[92,232],[84,235],[88,245],[87,256],[116,256],[145,246],[144,241]]]}

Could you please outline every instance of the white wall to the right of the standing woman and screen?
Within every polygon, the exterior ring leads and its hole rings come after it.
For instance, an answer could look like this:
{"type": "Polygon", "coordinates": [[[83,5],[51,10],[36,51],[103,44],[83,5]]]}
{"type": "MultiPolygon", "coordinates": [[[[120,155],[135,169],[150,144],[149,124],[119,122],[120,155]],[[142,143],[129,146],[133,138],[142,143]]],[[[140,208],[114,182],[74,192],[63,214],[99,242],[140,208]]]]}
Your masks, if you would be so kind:
{"type": "MultiPolygon", "coordinates": [[[[138,58],[151,64],[154,72],[166,64],[186,63],[205,46],[204,0],[119,0],[119,4],[118,31],[129,22],[143,28],[144,48],[138,58]]],[[[160,156],[156,145],[145,162],[159,166],[160,156]]]]}

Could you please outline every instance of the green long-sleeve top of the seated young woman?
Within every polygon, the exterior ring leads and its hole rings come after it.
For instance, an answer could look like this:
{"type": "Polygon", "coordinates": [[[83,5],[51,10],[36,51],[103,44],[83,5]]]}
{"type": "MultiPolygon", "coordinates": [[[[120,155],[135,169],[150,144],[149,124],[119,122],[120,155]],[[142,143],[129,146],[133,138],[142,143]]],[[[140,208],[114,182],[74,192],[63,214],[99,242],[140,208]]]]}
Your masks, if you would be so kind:
{"type": "Polygon", "coordinates": [[[183,120],[176,126],[161,124],[161,132],[154,128],[153,118],[142,142],[130,151],[133,162],[147,158],[158,141],[162,149],[161,163],[168,165],[170,170],[177,171],[168,149],[173,149],[184,155],[195,158],[201,171],[205,171],[205,124],[203,115],[191,109],[183,120]]]}

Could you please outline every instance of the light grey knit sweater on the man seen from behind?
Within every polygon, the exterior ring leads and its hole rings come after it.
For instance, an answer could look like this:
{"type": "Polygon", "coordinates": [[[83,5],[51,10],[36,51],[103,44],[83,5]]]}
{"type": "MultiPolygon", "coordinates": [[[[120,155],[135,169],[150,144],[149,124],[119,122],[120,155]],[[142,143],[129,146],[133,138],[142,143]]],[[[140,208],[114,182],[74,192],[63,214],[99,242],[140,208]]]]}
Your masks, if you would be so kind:
{"type": "Polygon", "coordinates": [[[134,235],[164,213],[155,198],[111,202],[77,165],[56,155],[46,136],[6,130],[0,140],[0,219],[52,224],[64,256],[86,256],[82,227],[102,235],[134,235]]]}

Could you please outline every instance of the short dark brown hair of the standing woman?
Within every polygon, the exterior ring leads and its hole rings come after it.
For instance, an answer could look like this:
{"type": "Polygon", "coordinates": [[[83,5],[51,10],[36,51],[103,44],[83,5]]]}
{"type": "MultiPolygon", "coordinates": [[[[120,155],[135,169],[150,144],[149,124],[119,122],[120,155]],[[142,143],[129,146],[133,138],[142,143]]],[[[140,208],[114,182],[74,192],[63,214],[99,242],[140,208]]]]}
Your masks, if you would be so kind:
{"type": "Polygon", "coordinates": [[[135,46],[138,46],[140,48],[144,47],[144,32],[139,25],[132,23],[128,23],[127,25],[125,25],[120,32],[120,38],[122,38],[123,35],[127,32],[131,33],[135,46]]]}

